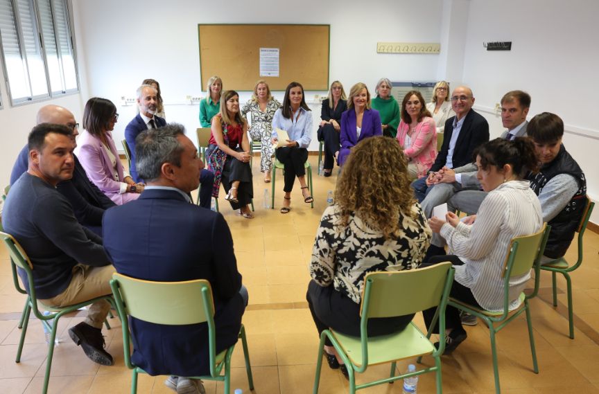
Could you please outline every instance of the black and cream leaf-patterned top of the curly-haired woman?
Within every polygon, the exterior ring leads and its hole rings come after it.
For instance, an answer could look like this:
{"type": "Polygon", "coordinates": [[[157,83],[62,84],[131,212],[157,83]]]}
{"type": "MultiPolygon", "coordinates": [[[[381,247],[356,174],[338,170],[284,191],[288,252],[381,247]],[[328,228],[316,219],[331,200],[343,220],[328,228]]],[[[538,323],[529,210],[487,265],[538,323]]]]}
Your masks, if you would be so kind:
{"type": "Polygon", "coordinates": [[[428,244],[431,229],[419,204],[412,207],[416,220],[402,215],[401,231],[395,239],[385,240],[383,233],[351,215],[347,226],[340,222],[337,205],[324,210],[316,233],[310,274],[321,286],[333,286],[355,303],[360,303],[364,277],[374,271],[402,271],[417,268],[428,244]]]}

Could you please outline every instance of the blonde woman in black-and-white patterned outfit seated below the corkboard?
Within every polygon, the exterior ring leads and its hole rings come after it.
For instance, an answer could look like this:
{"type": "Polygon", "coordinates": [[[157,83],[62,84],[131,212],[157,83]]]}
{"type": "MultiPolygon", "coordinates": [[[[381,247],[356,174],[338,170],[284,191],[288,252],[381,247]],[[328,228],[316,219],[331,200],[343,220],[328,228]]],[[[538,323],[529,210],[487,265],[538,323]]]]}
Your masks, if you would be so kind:
{"type": "Polygon", "coordinates": [[[260,171],[264,172],[264,181],[270,182],[270,170],[272,170],[272,148],[270,138],[272,137],[272,117],[275,116],[281,103],[270,94],[270,88],[264,80],[259,80],[254,86],[252,98],[245,103],[241,109],[241,115],[252,115],[250,136],[253,140],[260,140],[260,171]]]}

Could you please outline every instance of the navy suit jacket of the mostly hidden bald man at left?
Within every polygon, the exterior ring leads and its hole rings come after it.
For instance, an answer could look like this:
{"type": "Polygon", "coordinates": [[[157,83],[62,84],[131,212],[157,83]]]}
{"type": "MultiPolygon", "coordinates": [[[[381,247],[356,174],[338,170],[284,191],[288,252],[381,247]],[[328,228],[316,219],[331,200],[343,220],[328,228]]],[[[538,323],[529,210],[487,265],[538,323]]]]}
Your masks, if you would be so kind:
{"type": "MultiPolygon", "coordinates": [[[[56,188],[71,203],[77,221],[82,226],[100,235],[104,211],[115,204],[94,183],[89,181],[79,159],[75,155],[73,157],[75,158],[73,177],[69,181],[58,183],[56,188]]],[[[27,171],[28,165],[29,148],[25,145],[19,152],[15,165],[12,166],[12,172],[10,173],[11,186],[27,171]]]]}

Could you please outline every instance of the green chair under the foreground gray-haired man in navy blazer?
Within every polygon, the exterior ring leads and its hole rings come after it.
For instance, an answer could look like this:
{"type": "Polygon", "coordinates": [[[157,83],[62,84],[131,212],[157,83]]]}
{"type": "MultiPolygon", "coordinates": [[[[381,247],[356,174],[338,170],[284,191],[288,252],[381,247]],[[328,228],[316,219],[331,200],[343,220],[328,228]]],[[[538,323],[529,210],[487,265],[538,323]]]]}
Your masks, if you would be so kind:
{"type": "MultiPolygon", "coordinates": [[[[127,316],[156,324],[186,325],[206,322],[208,325],[208,347],[210,355],[210,375],[191,377],[192,379],[218,380],[225,382],[225,394],[231,390],[231,356],[235,345],[216,354],[216,331],[214,328],[214,301],[212,289],[207,280],[186,280],[184,282],[153,282],[130,278],[114,273],[110,280],[116,308],[123,322],[123,343],[130,343],[127,316]],[[224,370],[224,372],[223,372],[224,370]],[[221,375],[223,373],[223,375],[221,375]]],[[[241,325],[239,338],[245,356],[245,369],[248,373],[250,390],[254,389],[252,367],[245,328],[241,325]]],[[[137,393],[137,374],[146,373],[131,362],[129,346],[123,346],[125,365],[132,370],[131,393],[137,393]]]]}

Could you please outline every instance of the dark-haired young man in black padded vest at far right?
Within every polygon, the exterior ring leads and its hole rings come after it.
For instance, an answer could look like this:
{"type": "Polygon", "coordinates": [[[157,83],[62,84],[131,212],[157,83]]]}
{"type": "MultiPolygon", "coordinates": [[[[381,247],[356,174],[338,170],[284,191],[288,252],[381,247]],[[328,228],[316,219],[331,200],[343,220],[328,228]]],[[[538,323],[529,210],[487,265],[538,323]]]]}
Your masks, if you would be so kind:
{"type": "MultiPolygon", "coordinates": [[[[541,169],[529,174],[530,188],[541,202],[543,221],[551,226],[541,264],[566,254],[587,204],[587,179],[584,172],[562,145],[564,122],[544,112],[528,123],[528,136],[535,143],[541,169]]],[[[465,190],[447,203],[449,209],[476,212],[486,193],[465,190]]],[[[476,219],[476,217],[474,217],[476,219]]]]}

